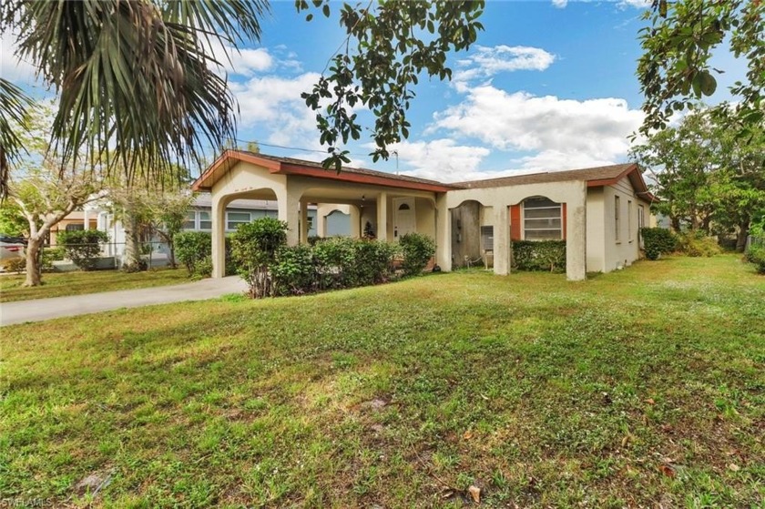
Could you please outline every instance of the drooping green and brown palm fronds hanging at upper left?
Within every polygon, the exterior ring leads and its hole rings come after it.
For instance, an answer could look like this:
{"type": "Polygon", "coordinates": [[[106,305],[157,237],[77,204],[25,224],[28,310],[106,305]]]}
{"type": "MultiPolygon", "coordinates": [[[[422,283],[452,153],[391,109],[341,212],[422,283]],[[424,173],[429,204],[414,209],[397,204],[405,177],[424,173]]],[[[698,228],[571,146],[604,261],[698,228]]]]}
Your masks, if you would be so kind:
{"type": "MultiPolygon", "coordinates": [[[[268,0],[24,0],[0,6],[0,29],[20,34],[18,56],[56,91],[51,147],[62,166],[98,162],[132,182],[173,176],[235,136],[238,107],[213,48],[228,59],[260,40],[268,10],[268,0]]],[[[24,106],[0,78],[3,196],[21,149],[10,125],[22,124],[24,106]]]]}

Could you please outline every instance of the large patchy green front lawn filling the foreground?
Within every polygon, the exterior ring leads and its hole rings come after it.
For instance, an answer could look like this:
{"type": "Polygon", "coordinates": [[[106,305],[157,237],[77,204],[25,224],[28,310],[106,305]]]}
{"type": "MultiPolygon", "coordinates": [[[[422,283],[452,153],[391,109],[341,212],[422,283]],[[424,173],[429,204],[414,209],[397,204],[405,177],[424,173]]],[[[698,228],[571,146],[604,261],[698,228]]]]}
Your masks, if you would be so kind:
{"type": "Polygon", "coordinates": [[[765,278],[735,256],[118,310],[3,329],[0,352],[5,500],[765,500],[765,278]]]}

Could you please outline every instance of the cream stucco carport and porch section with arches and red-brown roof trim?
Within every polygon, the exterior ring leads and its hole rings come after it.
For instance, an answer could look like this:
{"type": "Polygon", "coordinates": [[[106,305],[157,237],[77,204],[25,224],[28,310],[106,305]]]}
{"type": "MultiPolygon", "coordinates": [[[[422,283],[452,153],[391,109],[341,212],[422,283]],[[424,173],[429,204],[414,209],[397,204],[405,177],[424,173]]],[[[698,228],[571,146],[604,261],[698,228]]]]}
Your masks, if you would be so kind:
{"type": "MultiPolygon", "coordinates": [[[[326,235],[332,212],[349,214],[351,236],[396,241],[409,232],[449,242],[445,195],[452,187],[431,180],[403,177],[367,169],[343,168],[340,173],[291,158],[275,158],[227,150],[194,183],[212,199],[212,276],[225,274],[226,207],[234,199],[268,199],[278,205],[278,217],[288,225],[290,245],[308,241],[308,208],[316,206],[314,225],[326,235]],[[441,209],[439,209],[439,204],[441,209]]],[[[448,270],[447,264],[437,262],[448,270]]]]}

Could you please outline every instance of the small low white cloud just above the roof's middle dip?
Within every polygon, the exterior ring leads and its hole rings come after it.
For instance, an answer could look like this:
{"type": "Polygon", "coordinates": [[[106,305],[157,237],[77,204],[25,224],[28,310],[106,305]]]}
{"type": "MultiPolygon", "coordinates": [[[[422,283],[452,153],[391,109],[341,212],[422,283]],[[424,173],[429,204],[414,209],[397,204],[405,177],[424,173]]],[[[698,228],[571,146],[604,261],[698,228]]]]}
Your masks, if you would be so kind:
{"type": "MultiPolygon", "coordinates": [[[[389,147],[398,152],[401,166],[413,168],[405,175],[431,178],[441,182],[457,182],[474,178],[481,161],[491,152],[485,147],[456,145],[452,139],[403,141],[389,147]]],[[[391,157],[393,160],[393,156],[391,157]]]]}

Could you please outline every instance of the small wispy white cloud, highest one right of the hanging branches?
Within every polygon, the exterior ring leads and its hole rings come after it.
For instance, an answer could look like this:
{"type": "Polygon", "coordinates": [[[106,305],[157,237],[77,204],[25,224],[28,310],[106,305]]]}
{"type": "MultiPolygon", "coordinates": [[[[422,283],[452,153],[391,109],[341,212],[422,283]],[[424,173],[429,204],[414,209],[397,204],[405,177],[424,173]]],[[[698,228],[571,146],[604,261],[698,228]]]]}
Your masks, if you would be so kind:
{"type": "Polygon", "coordinates": [[[457,62],[465,67],[454,73],[454,81],[495,76],[501,72],[544,71],[556,59],[544,49],[531,46],[477,46],[477,51],[457,62]]]}

